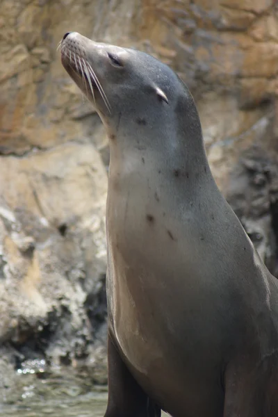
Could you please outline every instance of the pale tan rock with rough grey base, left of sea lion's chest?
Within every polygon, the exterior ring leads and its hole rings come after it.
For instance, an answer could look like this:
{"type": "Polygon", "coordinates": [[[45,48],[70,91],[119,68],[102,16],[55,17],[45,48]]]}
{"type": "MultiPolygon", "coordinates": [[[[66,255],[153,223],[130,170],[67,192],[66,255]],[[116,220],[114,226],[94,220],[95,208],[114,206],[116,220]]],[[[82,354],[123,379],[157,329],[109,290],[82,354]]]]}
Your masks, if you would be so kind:
{"type": "Polygon", "coordinates": [[[63,317],[62,305],[70,336],[90,334],[85,300],[106,265],[106,172],[99,154],[88,142],[72,142],[3,157],[0,171],[0,340],[12,338],[20,347],[48,325],[54,309],[63,317]]]}

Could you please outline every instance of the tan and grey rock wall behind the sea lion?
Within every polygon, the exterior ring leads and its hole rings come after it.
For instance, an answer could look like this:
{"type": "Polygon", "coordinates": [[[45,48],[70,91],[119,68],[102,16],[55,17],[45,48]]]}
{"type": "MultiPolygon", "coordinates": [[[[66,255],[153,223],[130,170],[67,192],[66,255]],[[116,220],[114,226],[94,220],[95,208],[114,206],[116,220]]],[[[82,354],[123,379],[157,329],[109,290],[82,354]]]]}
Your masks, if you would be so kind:
{"type": "Polygon", "coordinates": [[[0,341],[15,363],[90,357],[105,334],[108,144],[60,65],[66,31],[186,81],[215,179],[278,274],[276,1],[2,0],[0,341]]]}

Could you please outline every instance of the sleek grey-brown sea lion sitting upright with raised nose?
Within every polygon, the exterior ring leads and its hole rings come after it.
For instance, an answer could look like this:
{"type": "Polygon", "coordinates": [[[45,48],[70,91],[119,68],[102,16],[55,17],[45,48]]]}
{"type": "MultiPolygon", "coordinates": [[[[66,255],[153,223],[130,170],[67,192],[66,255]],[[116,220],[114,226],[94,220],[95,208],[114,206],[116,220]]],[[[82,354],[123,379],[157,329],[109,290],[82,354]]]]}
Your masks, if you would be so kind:
{"type": "Polygon", "coordinates": [[[106,128],[106,417],[278,416],[278,286],[208,166],[170,67],[66,33],[65,70],[106,128]]]}

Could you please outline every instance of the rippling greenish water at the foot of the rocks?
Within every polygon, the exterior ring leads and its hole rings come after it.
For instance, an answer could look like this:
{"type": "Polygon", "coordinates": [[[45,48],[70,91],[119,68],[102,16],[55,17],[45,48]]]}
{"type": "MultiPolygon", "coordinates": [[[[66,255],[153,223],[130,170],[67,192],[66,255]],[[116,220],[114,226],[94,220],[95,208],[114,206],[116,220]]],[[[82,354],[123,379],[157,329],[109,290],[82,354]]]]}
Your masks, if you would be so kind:
{"type": "Polygon", "coordinates": [[[0,416],[103,417],[106,386],[94,386],[85,372],[63,368],[46,372],[20,372],[15,386],[0,401],[0,416]]]}

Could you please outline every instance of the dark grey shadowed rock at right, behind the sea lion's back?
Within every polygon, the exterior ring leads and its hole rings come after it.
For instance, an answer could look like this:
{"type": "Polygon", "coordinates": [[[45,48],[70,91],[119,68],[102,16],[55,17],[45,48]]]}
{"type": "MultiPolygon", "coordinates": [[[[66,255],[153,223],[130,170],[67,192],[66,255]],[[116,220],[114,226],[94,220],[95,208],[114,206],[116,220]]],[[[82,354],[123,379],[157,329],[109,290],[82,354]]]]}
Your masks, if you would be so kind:
{"type": "Polygon", "coordinates": [[[261,147],[248,149],[231,173],[231,204],[272,275],[278,277],[278,168],[261,147]]]}

